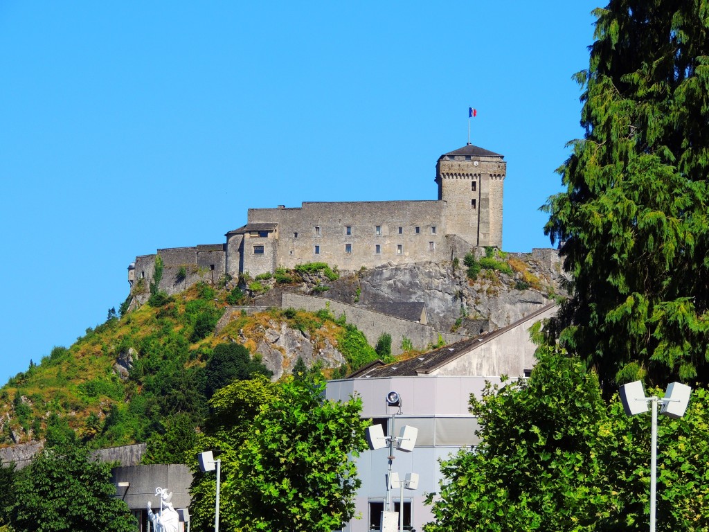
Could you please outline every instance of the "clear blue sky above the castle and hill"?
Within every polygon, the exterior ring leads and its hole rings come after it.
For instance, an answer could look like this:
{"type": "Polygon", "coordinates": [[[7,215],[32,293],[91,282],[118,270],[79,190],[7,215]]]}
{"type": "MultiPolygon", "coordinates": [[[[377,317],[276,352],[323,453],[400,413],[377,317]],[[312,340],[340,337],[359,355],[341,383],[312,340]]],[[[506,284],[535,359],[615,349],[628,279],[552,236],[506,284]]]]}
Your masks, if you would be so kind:
{"type": "Polygon", "coordinates": [[[0,2],[0,382],[118,308],[136,255],[250,207],[435,199],[469,106],[503,248],[549,247],[598,5],[0,2]]]}

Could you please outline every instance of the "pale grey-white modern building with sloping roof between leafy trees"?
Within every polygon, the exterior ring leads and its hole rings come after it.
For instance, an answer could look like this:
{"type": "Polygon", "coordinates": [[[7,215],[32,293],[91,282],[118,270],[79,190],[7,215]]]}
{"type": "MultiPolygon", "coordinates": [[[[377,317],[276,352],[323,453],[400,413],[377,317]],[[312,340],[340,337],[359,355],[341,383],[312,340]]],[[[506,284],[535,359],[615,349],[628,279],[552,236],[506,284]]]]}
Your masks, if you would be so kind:
{"type": "MultiPolygon", "coordinates": [[[[548,305],[510,326],[471,340],[448,345],[430,353],[391,365],[375,362],[347,379],[328,382],[327,398],[362,398],[362,416],[384,426],[393,417],[393,435],[404,425],[418,428],[411,453],[394,450],[392,472],[401,479],[418,473],[418,487],[404,490],[404,528],[421,532],[432,519],[425,504],[428,493],[439,490],[442,479],[439,460],[478,443],[477,419],[468,411],[471,394],[481,397],[486,382],[499,383],[500,375],[528,377],[535,363],[535,345],[529,329],[537,321],[554,316],[555,304],[548,305]],[[400,407],[389,407],[386,395],[398,392],[400,407]]],[[[362,487],[357,493],[357,515],[345,523],[343,532],[379,530],[386,501],[386,472],[389,448],[366,451],[357,460],[362,487]]],[[[400,490],[391,492],[398,511],[400,490]]]]}

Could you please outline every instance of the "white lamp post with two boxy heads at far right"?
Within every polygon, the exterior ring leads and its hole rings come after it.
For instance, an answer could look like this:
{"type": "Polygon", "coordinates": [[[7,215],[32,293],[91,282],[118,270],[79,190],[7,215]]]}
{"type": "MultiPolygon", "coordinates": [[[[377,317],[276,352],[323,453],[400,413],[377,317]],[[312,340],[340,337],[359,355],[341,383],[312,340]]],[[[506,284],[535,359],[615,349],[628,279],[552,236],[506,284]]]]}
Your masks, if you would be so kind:
{"type": "Polygon", "coordinates": [[[642,382],[639,380],[623,384],[620,387],[620,401],[628,416],[635,416],[647,412],[648,403],[652,407],[652,421],[650,423],[650,532],[655,532],[656,484],[657,484],[657,406],[661,407],[660,414],[678,419],[684,415],[689,404],[689,394],[692,389],[686,384],[673,382],[667,387],[665,396],[660,399],[657,395],[645,396],[642,382]]]}

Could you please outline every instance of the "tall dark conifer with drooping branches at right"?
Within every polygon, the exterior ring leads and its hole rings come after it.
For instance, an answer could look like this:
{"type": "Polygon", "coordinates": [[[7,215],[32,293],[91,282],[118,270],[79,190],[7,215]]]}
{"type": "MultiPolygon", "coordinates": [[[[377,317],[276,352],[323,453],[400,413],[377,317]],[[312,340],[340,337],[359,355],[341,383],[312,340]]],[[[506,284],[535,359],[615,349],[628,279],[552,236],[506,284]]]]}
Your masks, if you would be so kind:
{"type": "Polygon", "coordinates": [[[647,372],[709,383],[709,3],[596,9],[582,140],[559,168],[545,232],[573,297],[550,340],[596,368],[606,397],[647,372]]]}

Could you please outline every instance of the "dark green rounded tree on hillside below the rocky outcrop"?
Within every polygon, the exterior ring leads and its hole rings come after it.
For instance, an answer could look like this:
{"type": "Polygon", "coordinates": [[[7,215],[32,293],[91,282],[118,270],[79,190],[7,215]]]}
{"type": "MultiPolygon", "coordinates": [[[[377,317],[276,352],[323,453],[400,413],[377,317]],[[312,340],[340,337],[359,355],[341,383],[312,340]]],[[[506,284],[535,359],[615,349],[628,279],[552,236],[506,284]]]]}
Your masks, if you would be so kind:
{"type": "Polygon", "coordinates": [[[253,360],[249,350],[238,343],[220,343],[214,348],[206,364],[206,394],[212,397],[221,387],[234,379],[250,379],[253,375],[271,377],[273,372],[260,359],[253,360]]]}

